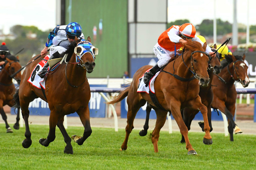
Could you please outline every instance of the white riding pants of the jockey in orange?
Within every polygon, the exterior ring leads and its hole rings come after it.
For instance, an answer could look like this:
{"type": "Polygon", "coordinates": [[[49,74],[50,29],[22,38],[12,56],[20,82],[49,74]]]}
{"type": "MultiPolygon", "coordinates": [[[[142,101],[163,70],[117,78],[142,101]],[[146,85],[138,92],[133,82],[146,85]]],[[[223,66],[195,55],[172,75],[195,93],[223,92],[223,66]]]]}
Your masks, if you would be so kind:
{"type": "Polygon", "coordinates": [[[158,43],[156,43],[156,45],[154,46],[153,51],[159,60],[157,62],[157,65],[160,68],[162,66],[165,66],[171,59],[170,55],[174,54],[174,51],[166,50],[166,49],[162,48],[161,46],[159,46],[158,43]]]}

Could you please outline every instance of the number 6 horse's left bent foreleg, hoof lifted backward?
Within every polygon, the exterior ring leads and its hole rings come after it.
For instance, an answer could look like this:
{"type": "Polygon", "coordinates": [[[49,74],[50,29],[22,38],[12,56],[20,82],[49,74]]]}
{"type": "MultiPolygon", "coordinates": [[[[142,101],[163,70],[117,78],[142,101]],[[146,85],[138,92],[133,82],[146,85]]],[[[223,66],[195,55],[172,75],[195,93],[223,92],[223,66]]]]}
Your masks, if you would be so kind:
{"type": "Polygon", "coordinates": [[[45,147],[49,146],[49,143],[51,143],[52,141],[54,141],[55,139],[55,129],[56,129],[56,125],[57,122],[59,120],[59,117],[57,116],[56,112],[51,111],[50,113],[50,118],[49,118],[49,134],[47,136],[47,139],[45,138],[41,138],[39,140],[39,143],[45,147]]]}

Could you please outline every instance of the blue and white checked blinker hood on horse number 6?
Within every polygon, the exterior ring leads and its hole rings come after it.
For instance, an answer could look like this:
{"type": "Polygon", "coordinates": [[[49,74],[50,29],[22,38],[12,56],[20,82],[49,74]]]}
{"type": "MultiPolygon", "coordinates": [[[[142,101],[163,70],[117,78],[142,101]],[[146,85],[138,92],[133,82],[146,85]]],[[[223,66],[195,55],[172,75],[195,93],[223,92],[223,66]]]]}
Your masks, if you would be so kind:
{"type": "Polygon", "coordinates": [[[74,49],[74,52],[76,54],[76,62],[79,62],[77,61],[77,58],[79,60],[81,60],[81,57],[85,54],[85,53],[91,53],[91,55],[93,56],[93,60],[95,60],[95,55],[98,55],[98,52],[99,52],[99,49],[98,48],[95,48],[91,43],[90,41],[87,41],[87,40],[84,40],[82,39],[78,44],[77,46],[75,47],[74,49]],[[80,53],[77,52],[77,48],[81,48],[82,51],[80,53]]]}

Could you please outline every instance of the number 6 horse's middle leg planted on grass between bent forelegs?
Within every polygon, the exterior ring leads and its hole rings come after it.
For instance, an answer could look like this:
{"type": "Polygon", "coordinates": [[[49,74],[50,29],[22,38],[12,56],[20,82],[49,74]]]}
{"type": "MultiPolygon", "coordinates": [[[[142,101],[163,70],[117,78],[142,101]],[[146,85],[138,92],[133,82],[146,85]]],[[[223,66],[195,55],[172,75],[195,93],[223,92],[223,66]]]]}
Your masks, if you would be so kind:
{"type": "Polygon", "coordinates": [[[67,153],[67,154],[73,154],[73,147],[71,145],[71,138],[69,137],[64,125],[63,125],[63,121],[64,121],[64,117],[60,118],[58,123],[57,123],[57,126],[60,130],[60,132],[62,133],[63,137],[64,137],[64,141],[66,142],[66,147],[64,149],[64,153],[67,153]]]}

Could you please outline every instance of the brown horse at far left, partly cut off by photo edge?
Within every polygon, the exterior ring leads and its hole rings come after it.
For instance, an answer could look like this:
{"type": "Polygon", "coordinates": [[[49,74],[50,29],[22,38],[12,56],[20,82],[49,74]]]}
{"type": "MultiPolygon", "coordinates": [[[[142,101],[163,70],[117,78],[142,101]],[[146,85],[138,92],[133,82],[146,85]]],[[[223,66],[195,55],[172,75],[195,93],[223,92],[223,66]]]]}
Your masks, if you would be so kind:
{"type": "MultiPolygon", "coordinates": [[[[19,64],[19,57],[15,57],[13,55],[9,55],[6,57],[7,63],[2,68],[0,72],[0,113],[2,118],[5,122],[5,128],[7,129],[6,132],[13,132],[7,122],[7,116],[3,110],[3,106],[9,105],[10,107],[14,106],[15,102],[13,101],[13,93],[15,92],[15,86],[12,82],[14,78],[17,83],[21,80],[21,73],[18,72],[17,74],[12,76],[16,71],[21,68],[19,64]]],[[[16,123],[14,124],[14,129],[19,129],[19,108],[16,117],[16,123]]]]}

